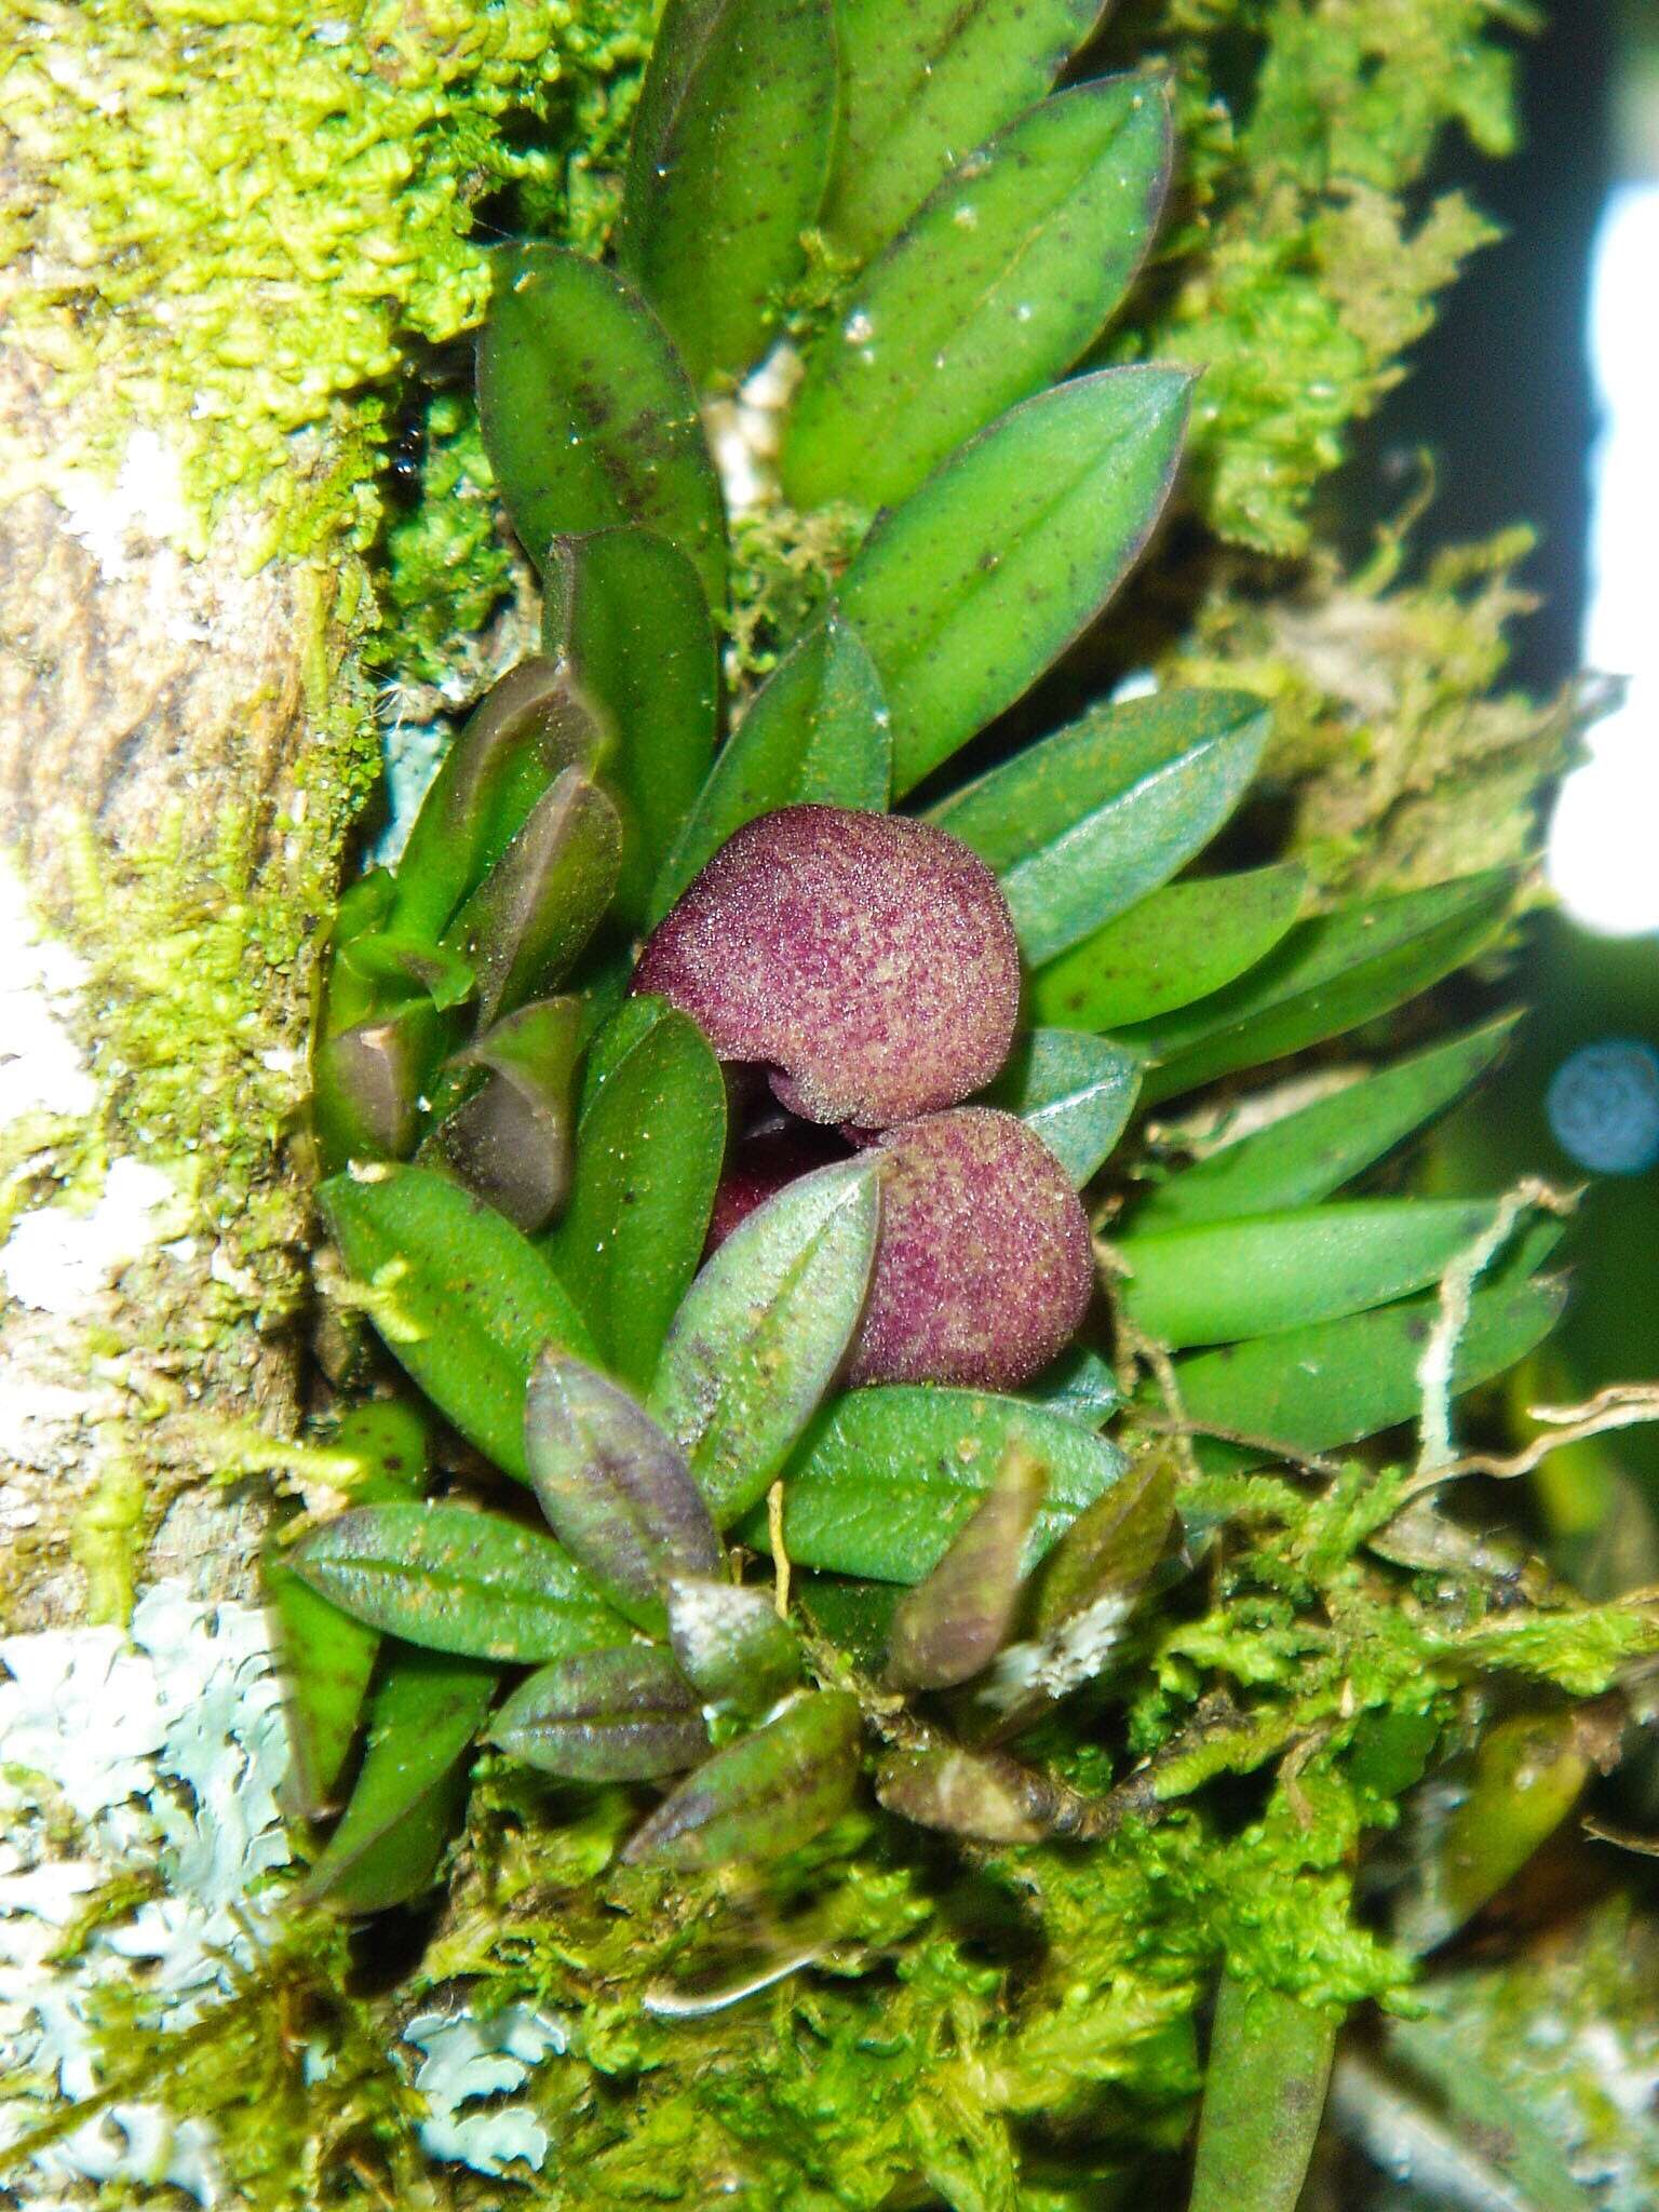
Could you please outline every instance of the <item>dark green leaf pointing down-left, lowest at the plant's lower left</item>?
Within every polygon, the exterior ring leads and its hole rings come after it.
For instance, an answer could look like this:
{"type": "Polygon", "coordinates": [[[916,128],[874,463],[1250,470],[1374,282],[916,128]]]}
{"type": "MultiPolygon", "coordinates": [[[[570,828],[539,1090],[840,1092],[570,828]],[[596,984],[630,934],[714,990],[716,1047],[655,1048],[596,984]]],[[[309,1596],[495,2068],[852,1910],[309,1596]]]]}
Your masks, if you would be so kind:
{"type": "Polygon", "coordinates": [[[467,1801],[465,1754],[498,1672],[476,1659],[400,1648],[369,1701],[367,1747],[327,1849],[294,1893],[378,1913],[431,1889],[467,1801]]]}

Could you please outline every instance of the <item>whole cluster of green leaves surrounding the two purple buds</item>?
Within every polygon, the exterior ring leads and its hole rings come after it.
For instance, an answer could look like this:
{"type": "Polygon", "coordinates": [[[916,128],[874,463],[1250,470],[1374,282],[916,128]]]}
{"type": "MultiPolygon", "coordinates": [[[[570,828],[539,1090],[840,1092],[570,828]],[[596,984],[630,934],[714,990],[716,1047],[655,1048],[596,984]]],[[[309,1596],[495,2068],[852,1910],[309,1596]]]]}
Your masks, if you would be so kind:
{"type": "MultiPolygon", "coordinates": [[[[1413,1416],[1442,1276],[1502,1241],[1495,1201],[1343,1197],[1502,1024],[1241,1106],[1186,1164],[1137,1115],[1427,991],[1506,878],[1307,914],[1296,867],[1194,874],[1259,768],[1254,697],[1104,699],[956,768],[1097,617],[1179,465],[1179,367],[1073,374],[1170,166],[1157,82],[1053,88],[1091,18],[670,0],[615,263],[500,257],[480,416],[544,648],[341,902],[314,1053],[330,1234],[467,1484],[422,1502],[376,1431],[352,1506],[272,1562],[307,1807],[356,1774],[312,1874],[345,1909],[431,1885],[480,1739],[639,1783],[628,1854],[672,1867],[796,1847],[867,1754],[909,1820],[1088,1836],[1104,1814],[1031,1745],[1203,1540],[1194,1469],[1413,1416]],[[781,495],[865,526],[732,701],[706,414],[774,349],[781,495]],[[728,841],[801,805],[918,816],[1006,900],[1022,1031],[980,1104],[1113,1223],[1106,1294],[1020,1391],[843,1387],[880,1148],[787,1177],[706,1259],[743,1093],[628,978],[728,841]]],[[[1522,1223],[1482,1261],[1444,1389],[1548,1329],[1548,1243],[1522,1223]]]]}

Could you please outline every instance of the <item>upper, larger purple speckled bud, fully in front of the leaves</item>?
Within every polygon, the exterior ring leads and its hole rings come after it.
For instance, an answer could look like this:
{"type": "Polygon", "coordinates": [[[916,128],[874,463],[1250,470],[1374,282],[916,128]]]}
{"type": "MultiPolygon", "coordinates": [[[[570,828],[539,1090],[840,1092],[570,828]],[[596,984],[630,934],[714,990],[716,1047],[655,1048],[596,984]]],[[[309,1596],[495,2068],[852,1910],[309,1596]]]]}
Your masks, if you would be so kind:
{"type": "Polygon", "coordinates": [[[989,867],[929,823],[781,807],[721,845],[633,980],[807,1121],[953,1106],[1013,1042],[1020,956],[989,867]]]}

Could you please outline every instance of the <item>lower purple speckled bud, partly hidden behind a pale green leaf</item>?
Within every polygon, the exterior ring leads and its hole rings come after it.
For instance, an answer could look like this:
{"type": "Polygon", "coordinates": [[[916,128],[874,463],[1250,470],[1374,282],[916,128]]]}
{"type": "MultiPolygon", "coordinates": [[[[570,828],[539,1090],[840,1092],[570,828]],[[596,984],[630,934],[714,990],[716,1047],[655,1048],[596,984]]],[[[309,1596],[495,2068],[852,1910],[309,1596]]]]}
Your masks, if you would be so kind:
{"type": "Polygon", "coordinates": [[[1095,1279],[1064,1168],[991,1106],[909,1121],[880,1150],[880,1243],[847,1380],[1029,1380],[1075,1336],[1095,1279]]]}

